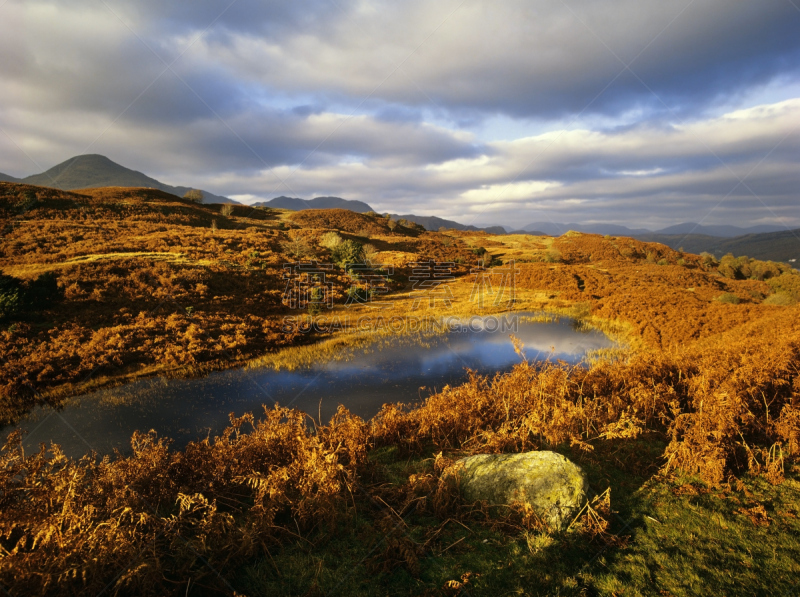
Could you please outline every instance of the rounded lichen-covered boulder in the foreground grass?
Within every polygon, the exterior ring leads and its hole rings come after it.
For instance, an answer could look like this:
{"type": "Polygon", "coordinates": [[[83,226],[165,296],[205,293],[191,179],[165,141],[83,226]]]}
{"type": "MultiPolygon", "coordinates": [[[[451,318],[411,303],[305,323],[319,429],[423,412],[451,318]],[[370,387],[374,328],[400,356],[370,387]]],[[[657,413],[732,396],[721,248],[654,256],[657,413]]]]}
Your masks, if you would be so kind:
{"type": "Polygon", "coordinates": [[[589,484],[583,470],[555,452],[478,454],[455,464],[467,501],[528,503],[554,529],[568,524],[586,503],[589,484]]]}

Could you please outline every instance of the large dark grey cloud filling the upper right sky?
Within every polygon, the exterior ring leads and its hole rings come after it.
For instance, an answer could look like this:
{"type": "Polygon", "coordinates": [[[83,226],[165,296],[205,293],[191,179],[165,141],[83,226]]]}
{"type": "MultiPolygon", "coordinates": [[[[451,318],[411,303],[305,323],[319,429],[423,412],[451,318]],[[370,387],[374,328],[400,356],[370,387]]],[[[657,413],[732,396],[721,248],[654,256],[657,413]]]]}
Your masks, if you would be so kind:
{"type": "Polygon", "coordinates": [[[449,18],[414,2],[380,4],[385,16],[341,5],[332,21],[314,20],[299,35],[289,26],[275,37],[242,29],[211,39],[207,57],[216,53],[243,77],[289,89],[433,102],[467,121],[474,110],[536,118],[632,107],[691,114],[799,72],[800,11],[786,0],[569,1],[537,9],[466,2],[449,18]],[[258,60],[237,67],[243,53],[258,60]]]}

